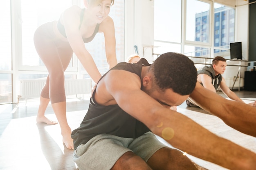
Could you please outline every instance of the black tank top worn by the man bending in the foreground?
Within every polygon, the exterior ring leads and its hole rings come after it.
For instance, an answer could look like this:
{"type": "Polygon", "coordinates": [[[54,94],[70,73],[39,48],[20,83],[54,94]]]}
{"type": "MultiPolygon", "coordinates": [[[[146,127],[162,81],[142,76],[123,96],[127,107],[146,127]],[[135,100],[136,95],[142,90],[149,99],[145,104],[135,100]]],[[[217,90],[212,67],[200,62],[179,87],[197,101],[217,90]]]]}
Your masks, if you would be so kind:
{"type": "MultiPolygon", "coordinates": [[[[142,65],[149,66],[150,64],[146,59],[142,58],[136,64],[126,62],[118,63],[111,70],[126,70],[141,77],[142,65]]],[[[90,99],[88,111],[80,127],[72,131],[71,137],[74,139],[74,149],[76,149],[77,146],[85,144],[98,134],[107,133],[119,137],[137,138],[148,131],[150,130],[145,124],[130,116],[118,105],[102,106],[97,104],[94,101],[93,94],[90,99]]]]}

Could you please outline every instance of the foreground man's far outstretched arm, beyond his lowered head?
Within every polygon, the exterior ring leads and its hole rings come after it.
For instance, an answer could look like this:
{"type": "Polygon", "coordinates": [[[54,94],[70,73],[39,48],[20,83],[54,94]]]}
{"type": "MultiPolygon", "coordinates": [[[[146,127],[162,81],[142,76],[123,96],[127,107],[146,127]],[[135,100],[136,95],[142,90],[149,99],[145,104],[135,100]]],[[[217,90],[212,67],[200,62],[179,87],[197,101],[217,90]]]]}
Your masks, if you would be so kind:
{"type": "Polygon", "coordinates": [[[227,100],[197,83],[190,99],[202,109],[221,118],[232,128],[256,137],[256,108],[227,100]]]}

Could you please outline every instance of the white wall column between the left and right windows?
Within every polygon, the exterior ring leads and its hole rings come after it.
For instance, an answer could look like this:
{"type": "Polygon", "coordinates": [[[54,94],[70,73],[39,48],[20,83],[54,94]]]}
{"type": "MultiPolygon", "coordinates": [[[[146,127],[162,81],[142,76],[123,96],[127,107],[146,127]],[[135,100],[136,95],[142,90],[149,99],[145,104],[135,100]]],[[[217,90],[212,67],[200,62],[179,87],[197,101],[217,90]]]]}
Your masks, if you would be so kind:
{"type": "MultiPolygon", "coordinates": [[[[135,54],[134,45],[142,57],[143,47],[154,44],[154,0],[129,0],[126,5],[126,58],[135,54]]],[[[150,50],[143,57],[152,60],[150,50]]]]}

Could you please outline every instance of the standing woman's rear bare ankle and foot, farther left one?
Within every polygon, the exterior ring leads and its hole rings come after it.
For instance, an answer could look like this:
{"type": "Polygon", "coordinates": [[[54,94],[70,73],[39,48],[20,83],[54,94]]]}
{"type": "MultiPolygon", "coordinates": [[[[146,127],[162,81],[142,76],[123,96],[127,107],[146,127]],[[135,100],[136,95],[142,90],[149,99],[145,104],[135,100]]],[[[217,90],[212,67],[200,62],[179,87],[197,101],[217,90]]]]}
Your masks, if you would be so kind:
{"type": "Polygon", "coordinates": [[[58,122],[49,120],[45,117],[45,110],[49,104],[50,99],[49,98],[43,98],[40,96],[40,104],[38,108],[38,113],[36,116],[36,122],[37,123],[46,123],[46,124],[57,124],[58,122]]]}

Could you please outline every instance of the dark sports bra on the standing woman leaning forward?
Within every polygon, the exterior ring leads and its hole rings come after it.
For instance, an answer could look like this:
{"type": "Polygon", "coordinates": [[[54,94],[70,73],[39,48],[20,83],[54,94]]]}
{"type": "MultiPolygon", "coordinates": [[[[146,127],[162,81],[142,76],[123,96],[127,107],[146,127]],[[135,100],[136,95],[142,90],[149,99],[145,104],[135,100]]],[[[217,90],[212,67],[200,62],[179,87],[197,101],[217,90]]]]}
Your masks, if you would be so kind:
{"type": "MultiPolygon", "coordinates": [[[[80,15],[80,24],[79,24],[79,30],[80,30],[80,27],[82,25],[82,22],[83,22],[83,14],[84,14],[84,11],[85,11],[85,8],[81,10],[81,15],[80,15]]],[[[58,23],[57,23],[57,28],[58,28],[58,31],[60,31],[60,33],[67,38],[67,35],[66,35],[66,32],[65,32],[65,27],[63,24],[61,24],[61,19],[58,20],[58,23]]],[[[83,38],[83,42],[84,43],[88,43],[90,41],[92,41],[92,39],[95,37],[95,35],[99,32],[99,24],[96,25],[95,27],[95,30],[94,30],[94,33],[92,34],[91,37],[89,38],[83,38]]]]}

